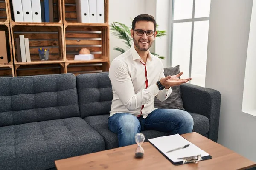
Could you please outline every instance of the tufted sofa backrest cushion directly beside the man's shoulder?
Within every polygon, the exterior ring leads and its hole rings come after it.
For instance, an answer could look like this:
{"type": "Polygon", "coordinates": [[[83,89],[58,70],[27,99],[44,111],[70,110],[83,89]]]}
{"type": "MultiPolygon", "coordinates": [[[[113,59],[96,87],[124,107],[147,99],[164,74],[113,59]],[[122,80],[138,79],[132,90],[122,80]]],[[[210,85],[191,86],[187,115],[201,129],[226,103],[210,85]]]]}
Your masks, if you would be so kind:
{"type": "Polygon", "coordinates": [[[108,72],[76,76],[81,117],[109,114],[113,99],[108,72]]]}

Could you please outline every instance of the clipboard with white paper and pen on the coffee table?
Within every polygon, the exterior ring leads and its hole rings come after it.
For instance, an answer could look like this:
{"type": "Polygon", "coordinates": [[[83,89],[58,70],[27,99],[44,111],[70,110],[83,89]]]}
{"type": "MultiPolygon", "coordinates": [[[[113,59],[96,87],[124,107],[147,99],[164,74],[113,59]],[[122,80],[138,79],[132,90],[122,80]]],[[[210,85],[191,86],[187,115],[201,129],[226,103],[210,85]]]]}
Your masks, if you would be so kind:
{"type": "Polygon", "coordinates": [[[204,150],[201,150],[195,144],[192,144],[179,134],[148,139],[148,142],[152,144],[164,157],[166,157],[166,159],[168,159],[174,165],[198,163],[198,161],[203,161],[212,158],[212,156],[209,155],[209,153],[206,153],[204,150]],[[185,148],[180,149],[179,151],[176,150],[172,152],[171,155],[169,153],[169,155],[167,154],[167,150],[173,149],[166,149],[169,148],[169,146],[177,146],[185,143],[190,144],[191,147],[188,147],[189,149],[185,148]]]}

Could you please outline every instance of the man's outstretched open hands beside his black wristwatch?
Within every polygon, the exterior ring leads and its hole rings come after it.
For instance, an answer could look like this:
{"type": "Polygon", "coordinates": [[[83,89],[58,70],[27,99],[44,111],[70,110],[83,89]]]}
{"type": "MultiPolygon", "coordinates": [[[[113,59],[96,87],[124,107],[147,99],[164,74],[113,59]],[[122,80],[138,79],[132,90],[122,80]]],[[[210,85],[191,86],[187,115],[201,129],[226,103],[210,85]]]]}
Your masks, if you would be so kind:
{"type": "Polygon", "coordinates": [[[167,77],[161,78],[160,82],[161,82],[162,85],[165,86],[166,89],[168,89],[168,88],[170,88],[172,86],[181,85],[183,83],[186,83],[186,82],[192,80],[192,78],[179,79],[179,77],[182,74],[183,74],[183,72],[180,72],[179,74],[174,75],[174,76],[167,76],[167,77]]]}

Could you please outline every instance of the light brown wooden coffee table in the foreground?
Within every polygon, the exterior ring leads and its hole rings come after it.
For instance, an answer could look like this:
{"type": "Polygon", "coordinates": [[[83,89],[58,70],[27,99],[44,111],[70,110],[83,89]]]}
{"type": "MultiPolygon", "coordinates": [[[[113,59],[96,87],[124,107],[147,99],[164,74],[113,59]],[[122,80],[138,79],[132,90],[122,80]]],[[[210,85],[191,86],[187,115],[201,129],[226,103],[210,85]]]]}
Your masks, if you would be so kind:
{"type": "Polygon", "coordinates": [[[212,159],[199,161],[197,164],[189,163],[173,165],[149,142],[143,143],[145,150],[143,158],[135,158],[137,144],[76,156],[55,161],[58,170],[237,170],[255,167],[256,163],[244,158],[238,153],[201,136],[198,133],[181,135],[188,141],[205,150],[212,159]]]}

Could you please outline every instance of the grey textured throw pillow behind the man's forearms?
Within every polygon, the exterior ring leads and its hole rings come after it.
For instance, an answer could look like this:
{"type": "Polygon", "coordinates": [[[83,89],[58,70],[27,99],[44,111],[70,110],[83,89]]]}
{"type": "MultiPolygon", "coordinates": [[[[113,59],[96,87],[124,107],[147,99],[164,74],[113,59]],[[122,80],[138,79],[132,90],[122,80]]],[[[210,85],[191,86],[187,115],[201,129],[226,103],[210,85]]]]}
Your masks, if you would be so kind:
{"type": "MultiPolygon", "coordinates": [[[[180,65],[176,67],[164,68],[164,75],[176,75],[180,73],[180,65]]],[[[181,89],[180,85],[172,87],[172,93],[170,96],[163,102],[158,100],[156,97],[154,99],[154,107],[158,109],[180,109],[185,110],[183,108],[183,102],[181,99],[181,89]]]]}

